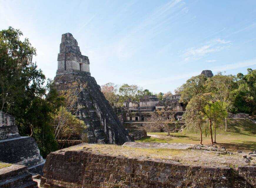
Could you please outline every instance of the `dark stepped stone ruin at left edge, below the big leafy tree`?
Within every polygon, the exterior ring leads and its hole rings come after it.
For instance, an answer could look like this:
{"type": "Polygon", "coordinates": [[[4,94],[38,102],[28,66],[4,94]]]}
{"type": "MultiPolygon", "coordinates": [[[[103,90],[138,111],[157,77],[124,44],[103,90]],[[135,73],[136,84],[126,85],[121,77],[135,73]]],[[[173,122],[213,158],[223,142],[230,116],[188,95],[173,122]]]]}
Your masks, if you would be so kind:
{"type": "Polygon", "coordinates": [[[0,161],[26,165],[31,173],[42,174],[44,160],[36,141],[30,136],[21,137],[15,118],[0,111],[0,161]]]}

